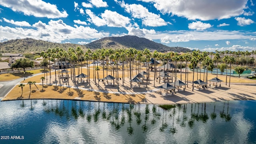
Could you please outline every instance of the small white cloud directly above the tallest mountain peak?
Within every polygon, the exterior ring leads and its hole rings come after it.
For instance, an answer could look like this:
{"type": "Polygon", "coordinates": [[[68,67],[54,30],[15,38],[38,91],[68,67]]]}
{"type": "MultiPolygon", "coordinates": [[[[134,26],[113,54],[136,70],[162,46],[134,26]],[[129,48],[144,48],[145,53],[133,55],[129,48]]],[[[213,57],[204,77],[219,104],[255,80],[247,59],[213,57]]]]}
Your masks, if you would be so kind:
{"type": "MultiPolygon", "coordinates": [[[[138,36],[138,37],[145,37],[147,34],[156,34],[156,31],[151,29],[145,29],[145,28],[134,28],[134,27],[126,27],[126,30],[128,30],[128,35],[132,36],[138,36]]],[[[148,36],[150,38],[150,36],[148,36]]]]}

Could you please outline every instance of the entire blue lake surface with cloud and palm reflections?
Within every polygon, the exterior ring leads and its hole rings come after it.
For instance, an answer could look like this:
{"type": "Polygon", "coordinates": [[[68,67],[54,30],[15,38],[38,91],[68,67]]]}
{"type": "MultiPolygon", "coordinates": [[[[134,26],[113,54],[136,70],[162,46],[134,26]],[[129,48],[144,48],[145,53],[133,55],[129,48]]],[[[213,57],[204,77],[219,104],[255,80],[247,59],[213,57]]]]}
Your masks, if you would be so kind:
{"type": "Polygon", "coordinates": [[[0,102],[7,143],[255,144],[256,101],[159,105],[17,100],[0,102]],[[22,136],[24,139],[22,139],[22,136]]]}

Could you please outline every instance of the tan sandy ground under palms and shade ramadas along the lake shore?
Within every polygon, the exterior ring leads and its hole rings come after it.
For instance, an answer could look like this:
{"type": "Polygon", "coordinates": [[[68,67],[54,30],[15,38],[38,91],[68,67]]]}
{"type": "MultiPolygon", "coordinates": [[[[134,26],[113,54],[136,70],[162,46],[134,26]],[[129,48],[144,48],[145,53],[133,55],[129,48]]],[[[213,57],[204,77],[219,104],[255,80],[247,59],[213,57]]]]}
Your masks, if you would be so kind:
{"type": "MultiPolygon", "coordinates": [[[[141,70],[142,72],[143,70],[141,70]]],[[[146,71],[146,70],[144,70],[146,71]]],[[[76,70],[76,73],[78,70],[76,70]]],[[[86,68],[82,69],[84,74],[87,74],[86,68]]],[[[138,72],[137,72],[138,73],[138,72]]],[[[123,102],[123,103],[141,103],[141,104],[183,104],[183,103],[198,103],[198,102],[213,102],[221,100],[256,100],[256,81],[250,80],[247,78],[236,78],[231,77],[230,88],[228,85],[225,85],[225,82],[222,82],[221,87],[210,87],[208,86],[205,90],[194,90],[192,91],[192,84],[188,85],[185,91],[181,88],[182,91],[176,92],[174,95],[166,95],[164,90],[160,90],[157,86],[164,84],[164,82],[155,82],[154,87],[154,72],[150,72],[150,83],[146,87],[146,80],[140,84],[138,88],[137,83],[132,83],[133,87],[130,88],[130,78],[128,78],[127,70],[124,75],[124,85],[122,80],[119,80],[119,86],[117,82],[108,81],[108,82],[96,82],[93,81],[93,70],[90,70],[90,82],[86,82],[87,78],[84,78],[85,82],[80,80],[77,83],[69,79],[68,82],[64,80],[55,81],[55,72],[51,72],[52,77],[50,81],[49,73],[47,74],[47,86],[46,80],[44,81],[44,89],[42,90],[42,81],[40,77],[44,74],[28,78],[24,83],[23,94],[21,88],[15,86],[11,92],[9,92],[3,99],[4,100],[20,100],[20,99],[70,99],[70,100],[90,100],[90,101],[102,101],[102,102],[123,102]],[[36,86],[31,85],[31,93],[28,81],[35,81],[39,90],[36,86]],[[108,84],[112,83],[112,84],[108,84]],[[50,85],[49,85],[50,84],[50,85]],[[237,85],[239,84],[239,85],[237,85]],[[242,84],[242,85],[241,85],[242,84]],[[245,85],[250,84],[250,85],[245,85]]],[[[70,73],[69,73],[70,74],[70,73]]],[[[97,74],[97,72],[96,72],[97,74]]],[[[108,74],[111,74],[108,71],[108,74]]],[[[133,75],[136,75],[135,68],[133,70],[133,75]]],[[[157,74],[158,75],[158,74],[157,74]]],[[[106,76],[106,71],[104,71],[104,76],[106,76]]],[[[116,76],[116,73],[115,75],[116,76]]],[[[46,75],[45,75],[46,77],[46,75]]],[[[122,72],[119,71],[119,77],[122,77],[122,72]]],[[[133,77],[133,76],[132,76],[133,77]]],[[[188,80],[192,81],[192,72],[189,72],[188,80]]],[[[208,80],[216,77],[216,75],[209,74],[208,80]]],[[[97,78],[97,76],[96,76],[97,78]]],[[[99,78],[103,78],[103,71],[99,71],[99,78]]],[[[177,74],[177,78],[180,79],[180,73],[177,74]]],[[[197,74],[195,73],[194,80],[197,80],[197,74]]],[[[198,78],[200,74],[198,73],[198,78]]],[[[226,80],[226,76],[218,75],[218,78],[221,80],[226,80]]],[[[185,74],[182,73],[182,81],[184,82],[185,74]]],[[[203,73],[201,74],[201,79],[203,80],[203,73]]],[[[228,77],[229,81],[229,77],[228,77]]],[[[171,82],[171,80],[170,80],[171,82]]],[[[211,84],[212,85],[212,84],[211,84]]],[[[170,92],[169,92],[170,93],[170,92]]]]}

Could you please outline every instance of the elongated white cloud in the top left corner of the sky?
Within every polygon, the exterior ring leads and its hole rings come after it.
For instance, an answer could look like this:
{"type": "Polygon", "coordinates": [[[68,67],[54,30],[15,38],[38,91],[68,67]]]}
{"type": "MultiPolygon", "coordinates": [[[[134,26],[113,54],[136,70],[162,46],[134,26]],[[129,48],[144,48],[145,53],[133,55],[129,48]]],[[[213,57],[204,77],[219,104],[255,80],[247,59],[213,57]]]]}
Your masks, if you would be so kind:
{"type": "Polygon", "coordinates": [[[0,5],[12,9],[14,12],[23,12],[27,16],[66,18],[67,12],[60,12],[54,4],[42,0],[1,0],[0,5]]]}

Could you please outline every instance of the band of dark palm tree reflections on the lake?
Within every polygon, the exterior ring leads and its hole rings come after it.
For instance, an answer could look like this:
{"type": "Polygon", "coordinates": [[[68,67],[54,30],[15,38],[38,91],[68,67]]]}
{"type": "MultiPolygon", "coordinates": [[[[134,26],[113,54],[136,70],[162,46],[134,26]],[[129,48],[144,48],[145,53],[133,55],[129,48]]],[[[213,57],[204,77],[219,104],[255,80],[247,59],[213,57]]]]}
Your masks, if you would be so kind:
{"type": "MultiPolygon", "coordinates": [[[[182,128],[193,128],[196,124],[206,124],[209,121],[208,113],[210,121],[218,119],[216,105],[209,103],[163,106],[71,100],[42,101],[40,104],[46,114],[55,114],[67,121],[84,120],[92,125],[102,121],[108,122],[114,130],[119,131],[124,128],[130,136],[134,135],[135,130],[138,130],[139,127],[143,133],[158,128],[161,133],[176,134],[182,128]]],[[[229,122],[232,118],[229,114],[229,103],[222,104],[223,109],[219,112],[219,118],[229,122]]],[[[34,105],[31,100],[30,108],[32,110],[34,105]]],[[[26,107],[23,100],[20,107],[26,107]]]]}

